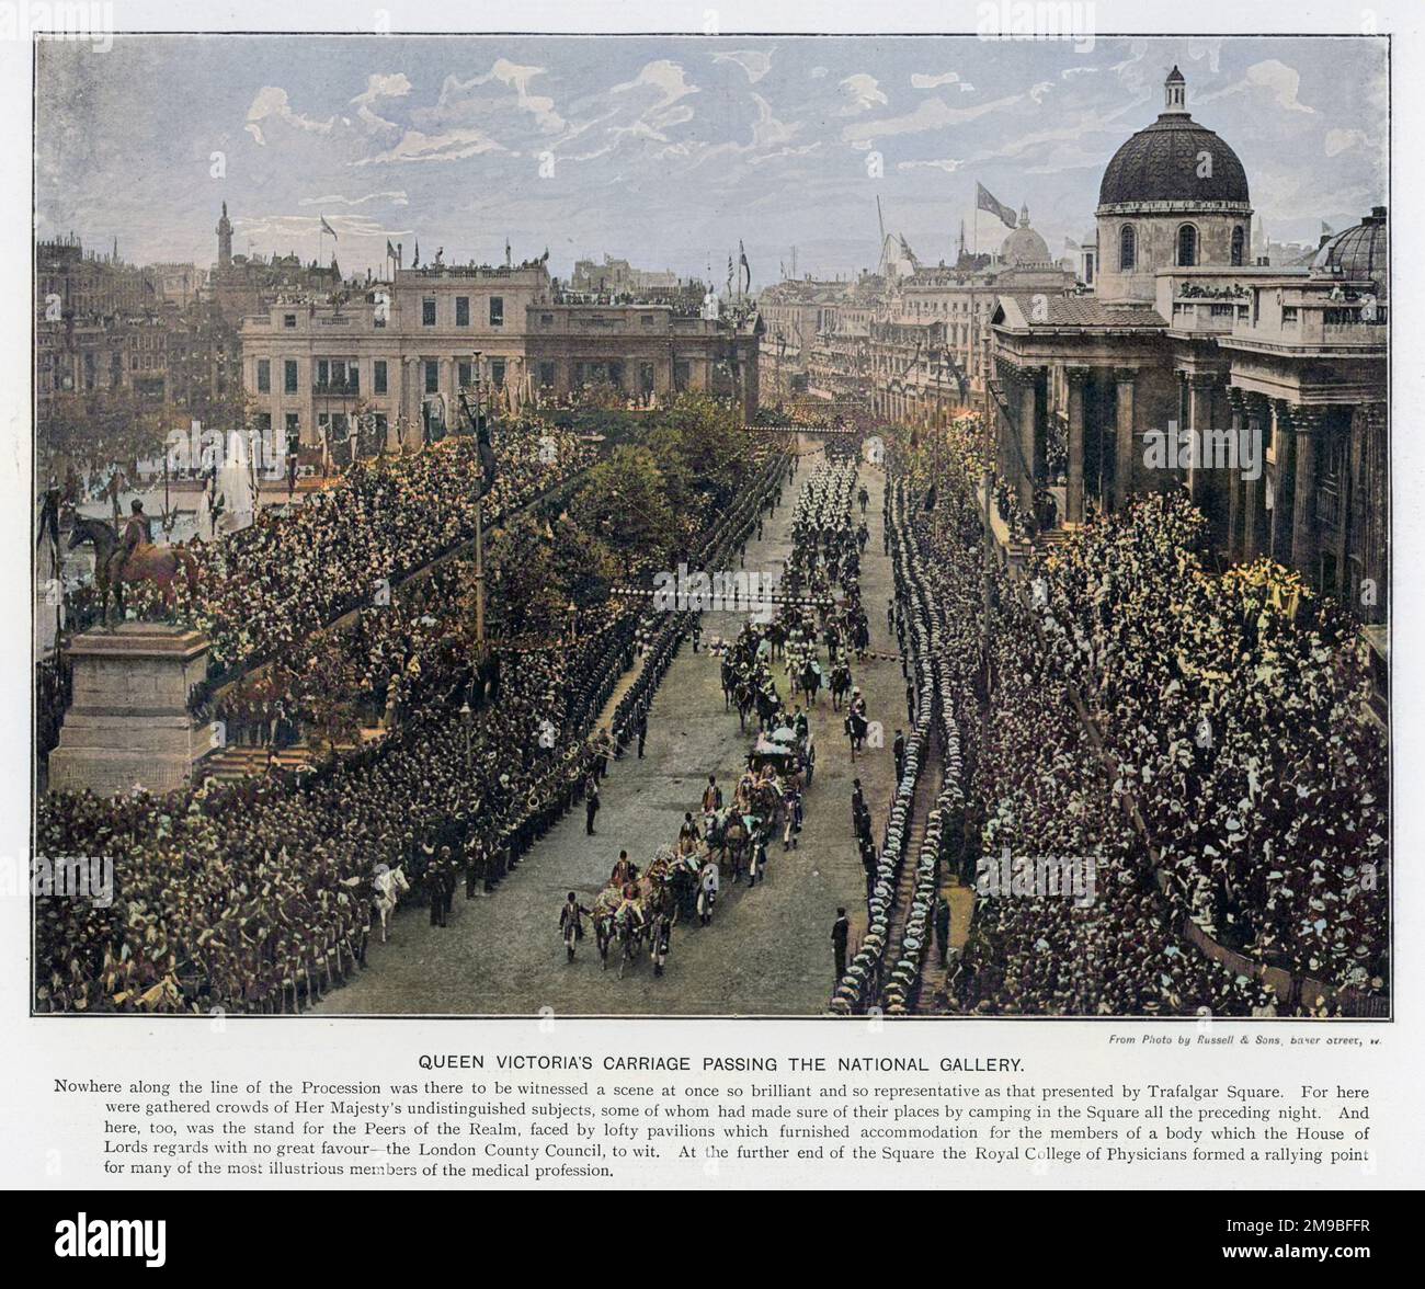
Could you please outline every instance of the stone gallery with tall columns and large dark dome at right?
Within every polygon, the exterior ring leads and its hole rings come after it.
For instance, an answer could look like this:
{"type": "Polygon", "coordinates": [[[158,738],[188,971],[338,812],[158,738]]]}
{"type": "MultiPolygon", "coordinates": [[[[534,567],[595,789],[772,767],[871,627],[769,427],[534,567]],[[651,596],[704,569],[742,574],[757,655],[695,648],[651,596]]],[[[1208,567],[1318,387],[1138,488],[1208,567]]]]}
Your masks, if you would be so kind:
{"type": "Polygon", "coordinates": [[[1177,68],[1164,91],[1103,175],[1093,295],[995,305],[1000,470],[1069,523],[1186,487],[1224,560],[1271,555],[1384,621],[1385,209],[1310,265],[1251,263],[1241,162],[1177,68]]]}

